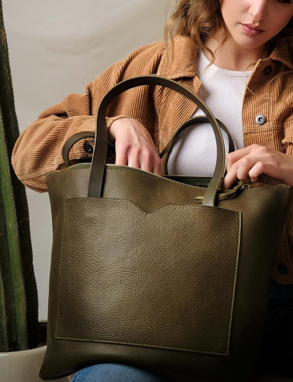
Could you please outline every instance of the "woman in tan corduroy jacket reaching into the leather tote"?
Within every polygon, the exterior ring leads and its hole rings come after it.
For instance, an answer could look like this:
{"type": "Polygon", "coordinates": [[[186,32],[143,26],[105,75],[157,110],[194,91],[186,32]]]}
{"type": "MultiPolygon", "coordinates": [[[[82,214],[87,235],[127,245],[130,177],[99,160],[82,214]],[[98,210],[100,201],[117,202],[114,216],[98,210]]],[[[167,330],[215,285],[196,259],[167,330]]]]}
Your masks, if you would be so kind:
{"type": "MultiPolygon", "coordinates": [[[[107,90],[142,74],[175,79],[199,95],[227,126],[236,151],[227,155],[223,188],[237,178],[251,186],[259,182],[293,186],[291,0],[178,1],[165,29],[165,43],[141,47],[110,66],[86,86],[84,95],[69,95],[21,134],[12,156],[19,179],[36,191],[46,191],[46,173],[65,166],[61,150],[66,139],[78,131],[94,131],[94,113],[107,90]],[[176,37],[168,43],[174,31],[176,37]]],[[[167,171],[170,175],[213,175],[216,146],[209,124],[185,129],[163,160],[159,158],[176,128],[192,115],[202,114],[190,100],[170,89],[143,86],[126,91],[108,110],[115,163],[158,175],[167,171]]],[[[227,151],[226,135],[224,140],[227,151]]],[[[76,144],[71,159],[88,157],[92,143],[87,139],[87,145],[76,144]]],[[[290,374],[293,355],[292,211],[277,254],[259,359],[261,367],[279,374],[290,374]]],[[[98,364],[77,372],[73,380],[171,379],[132,366],[98,364]]]]}

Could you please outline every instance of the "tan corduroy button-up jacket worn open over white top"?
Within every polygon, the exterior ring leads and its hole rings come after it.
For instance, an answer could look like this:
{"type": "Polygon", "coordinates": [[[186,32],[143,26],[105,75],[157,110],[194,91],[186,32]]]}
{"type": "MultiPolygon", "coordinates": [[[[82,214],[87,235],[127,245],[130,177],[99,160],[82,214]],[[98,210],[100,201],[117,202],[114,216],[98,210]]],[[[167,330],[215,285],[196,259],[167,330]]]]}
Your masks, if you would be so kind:
{"type": "MultiPolygon", "coordinates": [[[[168,49],[171,55],[170,45],[168,49]]],[[[29,188],[45,192],[46,174],[65,167],[61,150],[66,139],[78,131],[94,131],[95,114],[103,95],[124,79],[157,73],[178,81],[199,95],[202,82],[195,76],[196,54],[191,49],[189,37],[178,35],[175,37],[174,60],[169,67],[164,42],[143,46],[88,83],[85,94],[70,94],[61,103],[45,110],[19,136],[14,146],[12,164],[18,178],[29,188]]],[[[285,87],[293,84],[293,73],[273,81],[267,94],[264,94],[263,86],[272,76],[289,68],[293,69],[293,53],[288,42],[277,43],[269,58],[260,59],[256,63],[248,86],[258,96],[252,95],[246,89],[242,102],[245,147],[258,143],[293,155],[293,88],[284,91],[285,87]],[[266,118],[263,125],[256,123],[255,119],[259,114],[266,118]]],[[[123,116],[134,118],[147,128],[160,152],[174,131],[196,109],[197,106],[191,100],[173,90],[160,86],[139,86],[124,92],[112,102],[107,113],[107,126],[123,116]]],[[[88,141],[93,143],[91,139],[88,141]]],[[[75,145],[71,159],[91,155],[85,152],[84,143],[81,141],[75,145]]],[[[166,158],[167,155],[162,159],[162,175],[166,175],[166,158]]],[[[273,278],[281,284],[293,283],[292,204],[273,278]]]]}

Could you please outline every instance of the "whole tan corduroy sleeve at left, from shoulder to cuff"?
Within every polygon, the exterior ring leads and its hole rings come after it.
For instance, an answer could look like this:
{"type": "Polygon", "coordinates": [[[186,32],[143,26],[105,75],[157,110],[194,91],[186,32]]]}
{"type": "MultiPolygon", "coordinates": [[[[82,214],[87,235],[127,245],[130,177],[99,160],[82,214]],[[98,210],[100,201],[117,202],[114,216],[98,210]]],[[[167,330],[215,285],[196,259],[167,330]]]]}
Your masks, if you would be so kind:
{"type": "MultiPolygon", "coordinates": [[[[19,136],[11,162],[19,180],[38,192],[47,191],[46,175],[66,167],[62,147],[79,131],[94,131],[96,112],[102,97],[124,79],[157,73],[164,50],[163,42],[154,42],[136,49],[125,60],[106,69],[85,87],[85,94],[70,94],[61,103],[44,112],[19,136]]],[[[140,86],[120,94],[107,110],[107,128],[118,118],[134,118],[146,124],[154,141],[158,141],[157,106],[161,90],[140,86]]],[[[157,87],[156,87],[157,88],[157,87]]],[[[93,139],[88,138],[93,144],[93,139]]],[[[91,156],[80,141],[70,152],[70,161],[91,156]]],[[[74,162],[73,162],[74,163],[74,162]]]]}

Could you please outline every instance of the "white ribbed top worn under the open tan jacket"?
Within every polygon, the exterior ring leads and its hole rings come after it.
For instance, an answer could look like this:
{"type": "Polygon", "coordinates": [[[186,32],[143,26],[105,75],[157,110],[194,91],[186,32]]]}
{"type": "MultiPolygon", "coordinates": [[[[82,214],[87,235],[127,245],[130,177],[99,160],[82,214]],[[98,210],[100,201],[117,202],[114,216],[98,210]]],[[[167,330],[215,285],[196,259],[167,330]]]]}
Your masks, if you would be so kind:
{"type": "MultiPolygon", "coordinates": [[[[202,81],[200,99],[229,130],[235,150],[243,148],[242,99],[245,90],[243,71],[219,68],[212,64],[202,73],[209,60],[202,50],[196,57],[197,77],[202,81]]],[[[247,71],[245,81],[252,73],[247,71]]],[[[204,115],[198,108],[193,117],[204,115]]],[[[227,134],[221,129],[226,153],[229,150],[227,134]]],[[[169,175],[212,176],[216,166],[216,140],[210,123],[197,123],[181,131],[175,138],[168,155],[169,175]]]]}

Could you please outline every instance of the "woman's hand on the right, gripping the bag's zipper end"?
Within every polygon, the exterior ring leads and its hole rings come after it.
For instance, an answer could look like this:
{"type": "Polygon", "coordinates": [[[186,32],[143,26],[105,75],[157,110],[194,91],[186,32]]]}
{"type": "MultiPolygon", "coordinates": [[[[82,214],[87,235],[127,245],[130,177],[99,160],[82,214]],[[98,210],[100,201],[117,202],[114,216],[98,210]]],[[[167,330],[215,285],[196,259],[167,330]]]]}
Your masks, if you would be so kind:
{"type": "Polygon", "coordinates": [[[221,188],[229,189],[238,178],[245,183],[287,184],[293,187],[293,157],[252,144],[227,154],[227,174],[221,188]]]}

